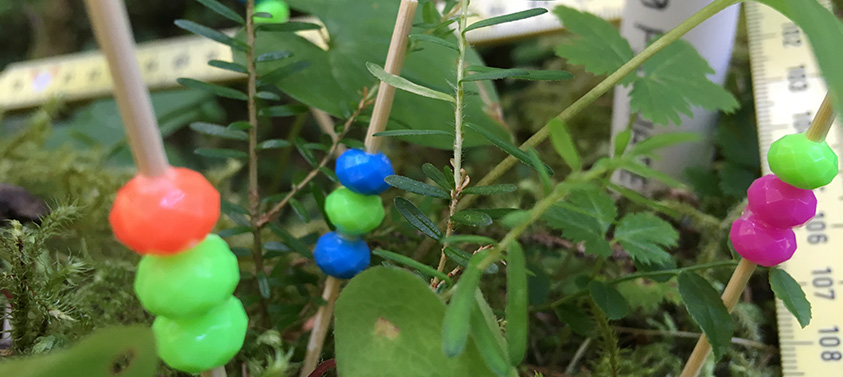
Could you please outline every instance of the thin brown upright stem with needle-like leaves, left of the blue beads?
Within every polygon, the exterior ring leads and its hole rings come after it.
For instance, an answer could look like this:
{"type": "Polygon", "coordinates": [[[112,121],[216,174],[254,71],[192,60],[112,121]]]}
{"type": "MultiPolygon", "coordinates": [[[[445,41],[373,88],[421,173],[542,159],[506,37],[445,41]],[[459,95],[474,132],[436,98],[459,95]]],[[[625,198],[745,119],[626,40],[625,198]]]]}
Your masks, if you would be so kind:
{"type": "MultiPolygon", "coordinates": [[[[249,221],[252,225],[252,259],[255,262],[255,286],[260,284],[258,276],[264,274],[263,267],[263,242],[261,240],[260,225],[260,188],[258,186],[258,103],[257,103],[257,78],[258,70],[255,64],[255,1],[246,2],[246,43],[249,49],[246,51],[246,69],[248,70],[248,108],[249,108],[249,221]]],[[[270,327],[269,303],[266,297],[260,295],[261,314],[263,324],[270,327]]]]}

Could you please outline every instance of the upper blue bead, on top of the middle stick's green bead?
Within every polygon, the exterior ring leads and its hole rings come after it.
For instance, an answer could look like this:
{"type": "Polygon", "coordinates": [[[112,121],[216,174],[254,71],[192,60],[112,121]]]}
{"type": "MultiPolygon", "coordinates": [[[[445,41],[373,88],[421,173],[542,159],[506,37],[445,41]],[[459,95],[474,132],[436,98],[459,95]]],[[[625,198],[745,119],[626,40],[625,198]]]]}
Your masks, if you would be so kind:
{"type": "Polygon", "coordinates": [[[384,178],[395,174],[392,162],[383,152],[366,153],[349,149],[337,158],[334,169],[340,183],[351,191],[363,195],[378,195],[389,188],[384,178]]]}

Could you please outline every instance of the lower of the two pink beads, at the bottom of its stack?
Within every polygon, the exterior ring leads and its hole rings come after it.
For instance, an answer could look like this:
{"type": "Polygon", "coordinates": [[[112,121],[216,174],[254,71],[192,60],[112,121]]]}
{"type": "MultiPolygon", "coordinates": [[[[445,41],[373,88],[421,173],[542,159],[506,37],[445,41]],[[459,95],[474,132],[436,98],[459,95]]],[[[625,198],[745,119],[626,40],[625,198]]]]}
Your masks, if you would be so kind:
{"type": "Polygon", "coordinates": [[[746,211],[734,223],[729,238],[735,251],[749,261],[765,267],[782,263],[796,251],[796,234],[790,228],[775,228],[746,211]]]}

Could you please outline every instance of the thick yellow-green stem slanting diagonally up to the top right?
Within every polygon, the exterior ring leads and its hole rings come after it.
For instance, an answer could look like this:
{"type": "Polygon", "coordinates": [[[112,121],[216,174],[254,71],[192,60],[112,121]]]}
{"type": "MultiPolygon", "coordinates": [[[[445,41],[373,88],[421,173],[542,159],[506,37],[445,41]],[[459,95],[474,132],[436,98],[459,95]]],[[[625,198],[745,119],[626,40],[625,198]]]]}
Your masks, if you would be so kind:
{"type": "MultiPolygon", "coordinates": [[[[705,8],[701,9],[699,12],[695,13],[690,18],[683,21],[679,24],[676,28],[669,31],[667,34],[663,35],[661,38],[657,39],[653,42],[650,46],[645,48],[641,53],[630,59],[617,71],[606,77],[601,83],[597,84],[593,89],[591,89],[588,93],[580,97],[576,102],[574,102],[571,106],[566,108],[564,111],[559,113],[554,117],[554,119],[559,119],[563,123],[567,123],[571,118],[575,115],[579,114],[580,111],[584,110],[586,107],[591,105],[595,100],[600,98],[603,94],[606,94],[610,89],[614,88],[624,77],[629,75],[635,70],[638,69],[642,64],[644,64],[647,59],[651,58],[657,52],[661,51],[663,48],[667,47],[669,44],[673,43],[677,39],[681,38],[685,33],[690,31],[691,29],[695,28],[697,25],[701,24],[703,21],[709,19],[711,16],[717,14],[723,9],[726,9],[730,5],[738,3],[738,0],[715,0],[711,2],[711,4],[707,5],[705,8]]],[[[547,137],[550,135],[550,125],[545,124],[538,132],[536,132],[532,137],[530,137],[524,144],[521,145],[521,149],[525,147],[535,147],[541,144],[547,137]]],[[[518,160],[513,156],[507,156],[506,159],[501,161],[497,166],[495,166],[489,173],[484,176],[478,185],[489,185],[495,182],[498,178],[500,178],[504,173],[506,173],[518,160]]],[[[463,209],[466,206],[470,205],[474,201],[475,197],[468,197],[465,198],[462,202],[460,202],[459,208],[463,209]]]]}

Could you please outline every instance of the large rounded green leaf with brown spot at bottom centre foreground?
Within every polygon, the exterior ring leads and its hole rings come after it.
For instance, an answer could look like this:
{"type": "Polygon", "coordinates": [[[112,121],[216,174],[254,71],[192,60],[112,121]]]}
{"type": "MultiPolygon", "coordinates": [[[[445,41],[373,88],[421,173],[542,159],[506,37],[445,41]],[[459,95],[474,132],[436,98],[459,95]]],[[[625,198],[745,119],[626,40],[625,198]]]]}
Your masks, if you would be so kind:
{"type": "Polygon", "coordinates": [[[445,305],[418,276],[395,268],[366,269],[337,300],[338,375],[493,376],[473,340],[460,356],[445,356],[444,315],[445,305]]]}

